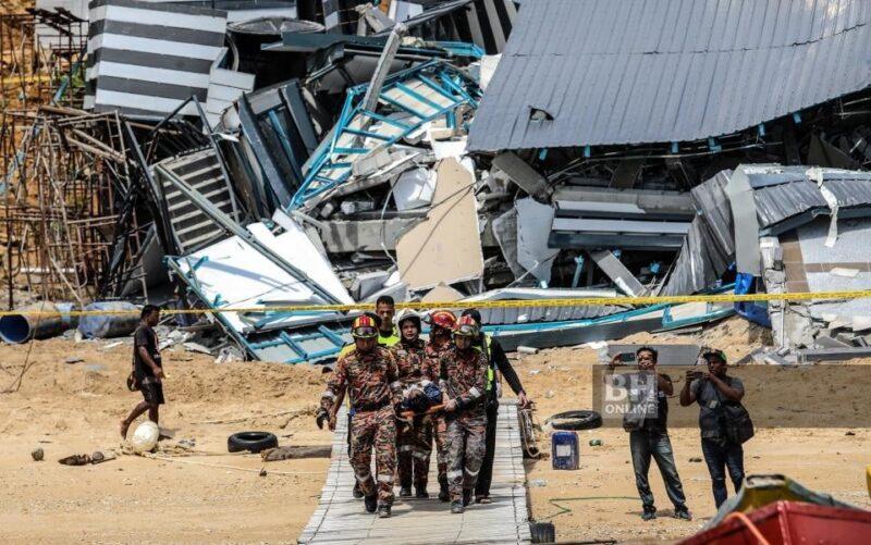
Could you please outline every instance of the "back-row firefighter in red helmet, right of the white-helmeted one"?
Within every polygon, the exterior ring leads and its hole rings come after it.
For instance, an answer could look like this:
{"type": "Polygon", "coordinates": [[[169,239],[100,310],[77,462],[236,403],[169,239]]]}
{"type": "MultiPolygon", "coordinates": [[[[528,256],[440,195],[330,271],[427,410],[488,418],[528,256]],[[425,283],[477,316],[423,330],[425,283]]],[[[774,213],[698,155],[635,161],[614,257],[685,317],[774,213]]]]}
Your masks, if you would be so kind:
{"type": "MultiPolygon", "coordinates": [[[[439,382],[441,374],[440,359],[443,352],[453,348],[451,338],[456,317],[447,310],[434,310],[429,315],[429,343],[424,348],[424,377],[434,383],[439,382]]],[[[447,454],[445,439],[447,424],[443,414],[432,417],[432,437],[436,439],[436,460],[439,470],[439,499],[449,501],[451,495],[447,491],[447,454]]]]}

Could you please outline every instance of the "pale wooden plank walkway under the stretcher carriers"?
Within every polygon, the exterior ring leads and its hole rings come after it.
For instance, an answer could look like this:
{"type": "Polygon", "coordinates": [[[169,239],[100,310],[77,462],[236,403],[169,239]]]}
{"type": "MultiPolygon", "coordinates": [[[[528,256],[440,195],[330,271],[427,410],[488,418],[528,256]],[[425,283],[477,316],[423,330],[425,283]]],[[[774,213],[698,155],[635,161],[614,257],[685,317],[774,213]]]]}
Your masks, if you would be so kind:
{"type": "MultiPolygon", "coordinates": [[[[379,519],[367,513],[361,499],[352,495],[354,470],[347,459],[347,418],[339,416],[327,482],[318,508],[299,536],[299,543],[353,544],[473,544],[530,543],[526,503],[526,474],[520,449],[516,405],[499,409],[496,453],[490,505],[471,505],[463,515],[451,515],[439,501],[436,450],[430,460],[429,499],[400,498],[393,516],[379,519]]],[[[373,462],[375,463],[375,462],[373,462]]],[[[372,468],[375,469],[375,468],[372,468]]],[[[398,484],[398,483],[396,483],[398,484]]]]}

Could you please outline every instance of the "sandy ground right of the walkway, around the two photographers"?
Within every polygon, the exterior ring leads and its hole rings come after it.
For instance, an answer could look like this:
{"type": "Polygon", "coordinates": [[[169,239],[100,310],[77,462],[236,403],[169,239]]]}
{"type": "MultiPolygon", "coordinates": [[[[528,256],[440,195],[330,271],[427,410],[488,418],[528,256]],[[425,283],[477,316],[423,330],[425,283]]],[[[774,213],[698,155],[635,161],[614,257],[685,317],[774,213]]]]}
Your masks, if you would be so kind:
{"type": "MultiPolygon", "coordinates": [[[[701,342],[723,348],[735,361],[759,346],[760,338],[759,330],[732,319],[701,337],[639,334],[626,340],[701,342]]],[[[515,362],[537,401],[539,423],[556,412],[591,408],[590,369],[594,363],[598,356],[590,349],[544,350],[515,362]]],[[[866,466],[871,465],[871,361],[854,363],[812,369],[747,366],[731,371],[745,383],[745,405],[758,428],[756,437],[745,445],[748,474],[783,473],[809,488],[871,507],[864,476],[866,466]],[[845,435],[848,431],[855,435],[845,435]]],[[[661,369],[675,380],[676,394],[683,386],[685,369],[661,369]]],[[[578,432],[577,471],[555,471],[551,460],[527,463],[532,516],[553,522],[559,541],[653,541],[691,535],[715,513],[707,467],[689,461],[702,457],[697,419],[698,406],[683,408],[676,397],[670,400],[670,436],[694,521],[671,517],[673,506],[655,466],[650,470],[650,483],[658,518],[640,520],[628,434],[618,425],[578,432]],[[591,438],[601,439],[603,445],[589,446],[591,438]]],[[[550,453],[548,426],[544,432],[540,446],[550,453]]]]}

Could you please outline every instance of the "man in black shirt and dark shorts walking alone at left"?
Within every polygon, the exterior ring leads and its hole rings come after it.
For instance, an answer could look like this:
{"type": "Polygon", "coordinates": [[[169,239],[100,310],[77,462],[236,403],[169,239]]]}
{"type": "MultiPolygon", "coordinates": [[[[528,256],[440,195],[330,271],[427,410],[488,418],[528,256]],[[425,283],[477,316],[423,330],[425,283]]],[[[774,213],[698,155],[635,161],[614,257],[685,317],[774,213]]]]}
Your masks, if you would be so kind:
{"type": "Polygon", "coordinates": [[[160,309],[146,305],[140,314],[139,326],[133,333],[133,372],[144,400],[133,408],[130,416],[121,421],[121,437],[127,437],[127,430],[134,420],[148,411],[148,419],[158,423],[159,407],[163,405],[163,364],[158,350],[157,333],[152,329],[160,321],[160,309]]]}

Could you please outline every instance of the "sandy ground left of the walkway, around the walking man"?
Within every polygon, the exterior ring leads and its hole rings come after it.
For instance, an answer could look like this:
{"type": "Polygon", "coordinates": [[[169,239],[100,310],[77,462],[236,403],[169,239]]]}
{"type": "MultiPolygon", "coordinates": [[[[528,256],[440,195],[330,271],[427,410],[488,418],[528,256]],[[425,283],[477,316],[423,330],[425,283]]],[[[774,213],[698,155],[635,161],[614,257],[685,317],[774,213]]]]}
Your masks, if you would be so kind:
{"type": "MultiPolygon", "coordinates": [[[[61,466],[57,460],[71,454],[118,447],[118,421],[140,399],[124,386],[130,347],[101,350],[101,345],[37,342],[36,364],[21,391],[0,395],[0,533],[7,541],[295,543],[317,504],[329,460],[269,462],[270,474],[261,478],[260,457],[226,454],[226,437],[263,430],[283,445],[315,445],[330,443],[329,433],[318,431],[309,416],[290,422],[287,416],[197,422],[310,409],[322,391],[320,370],[217,366],[207,356],[164,351],[170,379],[161,425],[175,430],[176,441],[196,439],[203,455],[61,466]],[[85,361],[63,363],[69,356],[85,361]],[[36,447],[44,448],[46,461],[32,460],[36,447]]],[[[25,348],[0,347],[0,362],[17,374],[25,348]]],[[[0,386],[9,382],[0,370],[0,386]]]]}

